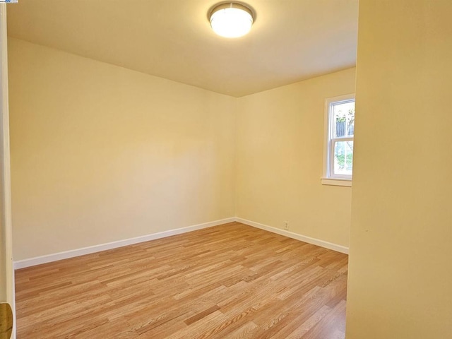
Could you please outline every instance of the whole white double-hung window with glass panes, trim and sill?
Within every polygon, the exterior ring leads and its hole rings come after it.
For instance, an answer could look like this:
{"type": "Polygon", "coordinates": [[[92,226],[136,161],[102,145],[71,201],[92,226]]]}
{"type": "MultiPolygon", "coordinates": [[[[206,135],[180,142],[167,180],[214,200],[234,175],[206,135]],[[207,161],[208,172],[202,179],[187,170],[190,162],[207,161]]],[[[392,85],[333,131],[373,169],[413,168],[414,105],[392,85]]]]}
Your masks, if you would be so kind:
{"type": "Polygon", "coordinates": [[[355,95],[325,100],[322,184],[352,186],[355,95]]]}

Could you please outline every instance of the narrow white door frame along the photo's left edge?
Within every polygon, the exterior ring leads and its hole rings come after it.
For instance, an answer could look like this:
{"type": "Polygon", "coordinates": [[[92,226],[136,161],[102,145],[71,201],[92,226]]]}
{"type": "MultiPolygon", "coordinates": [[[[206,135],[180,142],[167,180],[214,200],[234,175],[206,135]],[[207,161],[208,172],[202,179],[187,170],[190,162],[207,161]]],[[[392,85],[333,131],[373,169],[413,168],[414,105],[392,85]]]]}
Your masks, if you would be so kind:
{"type": "Polygon", "coordinates": [[[0,4],[0,239],[2,272],[1,302],[13,309],[12,339],[16,339],[16,311],[13,267],[13,227],[11,221],[11,161],[9,153],[8,35],[6,4],[0,4]]]}

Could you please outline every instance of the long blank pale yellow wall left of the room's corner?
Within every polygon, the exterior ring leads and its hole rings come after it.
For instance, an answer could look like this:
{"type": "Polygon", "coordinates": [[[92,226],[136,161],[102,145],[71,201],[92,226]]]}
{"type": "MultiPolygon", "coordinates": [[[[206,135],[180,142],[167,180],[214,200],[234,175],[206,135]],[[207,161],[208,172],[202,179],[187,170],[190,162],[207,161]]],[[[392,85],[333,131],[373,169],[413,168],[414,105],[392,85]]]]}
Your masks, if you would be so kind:
{"type": "Polygon", "coordinates": [[[236,100],[9,39],[14,259],[234,216],[236,100]]]}

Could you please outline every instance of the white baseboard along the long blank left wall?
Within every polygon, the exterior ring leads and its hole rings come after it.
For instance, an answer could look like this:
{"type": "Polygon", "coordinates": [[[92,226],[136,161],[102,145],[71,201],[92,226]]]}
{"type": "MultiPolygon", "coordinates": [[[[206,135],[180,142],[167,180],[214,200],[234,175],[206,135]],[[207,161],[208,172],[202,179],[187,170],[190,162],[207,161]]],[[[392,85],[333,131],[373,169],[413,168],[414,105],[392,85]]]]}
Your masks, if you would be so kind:
{"type": "Polygon", "coordinates": [[[157,232],[153,234],[143,235],[141,237],[135,237],[130,239],[119,240],[117,242],[109,242],[107,244],[100,244],[94,246],[83,247],[81,249],[72,249],[70,251],[59,252],[55,254],[47,254],[46,256],[37,256],[35,258],[28,258],[14,262],[14,269],[25,268],[30,266],[40,265],[42,263],[50,263],[52,261],[58,261],[67,258],[73,258],[75,256],[83,256],[85,254],[106,251],[107,249],[116,249],[118,247],[127,246],[131,244],[138,244],[140,242],[148,242],[150,240],[170,237],[176,234],[182,234],[186,232],[201,230],[203,228],[218,226],[227,224],[227,222],[234,222],[236,218],[226,218],[222,220],[215,220],[211,222],[204,222],[203,224],[193,225],[189,227],[176,228],[174,230],[168,230],[163,232],[157,232]]]}

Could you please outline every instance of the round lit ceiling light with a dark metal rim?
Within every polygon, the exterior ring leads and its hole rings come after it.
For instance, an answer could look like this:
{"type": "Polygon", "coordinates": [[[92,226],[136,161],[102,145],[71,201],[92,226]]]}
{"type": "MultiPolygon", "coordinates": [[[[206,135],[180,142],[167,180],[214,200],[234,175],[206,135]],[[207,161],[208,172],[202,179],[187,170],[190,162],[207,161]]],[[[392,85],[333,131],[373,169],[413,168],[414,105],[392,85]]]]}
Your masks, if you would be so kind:
{"type": "Polygon", "coordinates": [[[222,37],[242,37],[251,30],[253,11],[237,2],[218,4],[210,11],[210,26],[222,37]]]}

